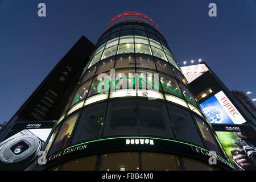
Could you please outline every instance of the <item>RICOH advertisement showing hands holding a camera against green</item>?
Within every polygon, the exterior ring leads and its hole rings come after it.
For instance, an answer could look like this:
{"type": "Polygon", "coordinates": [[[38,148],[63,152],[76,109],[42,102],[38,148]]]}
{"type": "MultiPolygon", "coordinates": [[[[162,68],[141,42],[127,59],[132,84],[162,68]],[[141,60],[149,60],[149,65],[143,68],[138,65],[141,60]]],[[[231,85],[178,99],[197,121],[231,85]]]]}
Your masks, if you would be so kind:
{"type": "Polygon", "coordinates": [[[238,171],[256,171],[256,132],[250,125],[213,124],[230,162],[238,171]]]}

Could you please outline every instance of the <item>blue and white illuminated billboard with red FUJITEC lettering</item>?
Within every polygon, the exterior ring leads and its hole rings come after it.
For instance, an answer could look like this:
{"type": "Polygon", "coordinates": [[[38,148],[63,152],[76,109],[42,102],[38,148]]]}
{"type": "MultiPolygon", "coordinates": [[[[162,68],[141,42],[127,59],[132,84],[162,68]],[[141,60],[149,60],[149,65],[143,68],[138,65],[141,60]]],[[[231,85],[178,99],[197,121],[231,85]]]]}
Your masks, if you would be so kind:
{"type": "Polygon", "coordinates": [[[242,124],[246,122],[222,91],[208,98],[208,100],[202,102],[199,106],[210,123],[242,124]]]}

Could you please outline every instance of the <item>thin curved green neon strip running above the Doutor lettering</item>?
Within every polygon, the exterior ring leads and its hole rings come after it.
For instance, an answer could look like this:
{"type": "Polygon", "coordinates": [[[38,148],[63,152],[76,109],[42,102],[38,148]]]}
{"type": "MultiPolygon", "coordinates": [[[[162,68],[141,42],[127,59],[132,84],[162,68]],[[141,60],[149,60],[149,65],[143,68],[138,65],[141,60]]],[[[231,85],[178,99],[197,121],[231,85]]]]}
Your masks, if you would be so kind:
{"type": "MultiPolygon", "coordinates": [[[[73,147],[77,147],[77,146],[80,146],[82,144],[87,144],[87,143],[93,143],[93,142],[99,142],[99,141],[103,141],[103,140],[112,140],[112,139],[129,139],[129,138],[144,138],[144,139],[154,139],[154,140],[166,140],[168,142],[176,142],[176,143],[181,143],[181,144],[187,144],[188,146],[192,146],[192,147],[196,147],[196,148],[200,148],[202,150],[205,150],[213,155],[217,155],[217,154],[214,154],[213,152],[203,148],[203,147],[199,147],[199,146],[196,146],[195,144],[191,144],[191,143],[186,143],[186,142],[181,142],[181,141],[178,141],[178,140],[173,140],[173,139],[167,139],[167,138],[155,138],[155,137],[111,137],[111,138],[101,138],[101,139],[96,139],[96,140],[90,140],[88,142],[82,142],[82,143],[79,143],[79,144],[75,144],[71,147],[68,147],[68,148],[64,148],[63,150],[61,151],[64,151],[66,149],[69,149],[69,148],[73,148],[73,147]]],[[[57,152],[61,152],[61,151],[57,151],[57,152]]],[[[54,154],[56,154],[57,152],[55,152],[54,154]]],[[[217,155],[219,158],[221,158],[222,160],[224,160],[226,163],[229,163],[227,162],[224,158],[222,158],[221,156],[217,155]]],[[[230,164],[230,163],[229,163],[230,164]]],[[[230,166],[232,166],[232,164],[230,164],[230,166]]],[[[236,171],[237,169],[232,166],[236,171]]]]}

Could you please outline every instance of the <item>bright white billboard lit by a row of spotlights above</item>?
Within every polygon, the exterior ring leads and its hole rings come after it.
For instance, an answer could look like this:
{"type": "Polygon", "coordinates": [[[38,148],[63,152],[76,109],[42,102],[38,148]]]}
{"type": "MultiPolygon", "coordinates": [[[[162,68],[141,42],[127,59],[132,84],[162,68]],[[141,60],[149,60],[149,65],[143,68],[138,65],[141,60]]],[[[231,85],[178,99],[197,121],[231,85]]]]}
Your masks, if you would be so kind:
{"type": "Polygon", "coordinates": [[[188,83],[192,82],[209,70],[205,64],[190,65],[187,67],[180,67],[180,69],[188,83]]]}

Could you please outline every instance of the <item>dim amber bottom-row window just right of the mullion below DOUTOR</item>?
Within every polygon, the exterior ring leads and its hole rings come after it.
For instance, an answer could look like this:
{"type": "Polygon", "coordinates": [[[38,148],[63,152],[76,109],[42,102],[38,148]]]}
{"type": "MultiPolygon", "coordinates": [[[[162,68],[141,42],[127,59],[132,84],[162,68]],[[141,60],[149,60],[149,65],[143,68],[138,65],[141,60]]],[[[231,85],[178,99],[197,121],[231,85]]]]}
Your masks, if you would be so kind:
{"type": "Polygon", "coordinates": [[[179,158],[175,155],[142,152],[143,171],[180,171],[179,158]]]}

